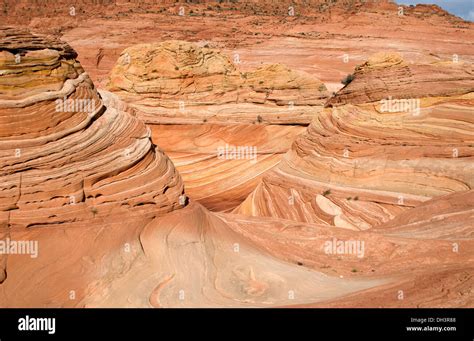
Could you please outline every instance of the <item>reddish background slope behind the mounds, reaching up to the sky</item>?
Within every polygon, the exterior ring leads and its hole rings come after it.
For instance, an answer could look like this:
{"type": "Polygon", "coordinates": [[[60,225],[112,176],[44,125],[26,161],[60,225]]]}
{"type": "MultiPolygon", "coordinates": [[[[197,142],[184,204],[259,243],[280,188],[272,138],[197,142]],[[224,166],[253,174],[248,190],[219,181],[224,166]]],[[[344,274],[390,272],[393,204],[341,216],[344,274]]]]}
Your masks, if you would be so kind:
{"type": "Polygon", "coordinates": [[[96,85],[106,84],[120,53],[131,44],[192,40],[240,54],[241,66],[282,62],[309,72],[331,90],[355,65],[381,46],[425,62],[471,60],[472,23],[438,6],[401,6],[387,1],[128,1],[6,0],[4,23],[64,35],[81,55],[96,85]],[[289,15],[289,7],[294,15],[289,15]],[[74,7],[75,15],[71,15],[74,7]],[[179,15],[180,8],[184,15],[179,15]],[[127,28],[125,30],[124,28],[127,28]],[[416,38],[413,39],[413,32],[416,38]],[[94,37],[94,39],[89,39],[94,37]],[[394,44],[387,45],[388,41],[394,44]],[[103,58],[97,66],[97,55],[103,58]],[[344,62],[343,55],[349,60],[344,62]],[[275,56],[278,56],[276,59],[275,56]]]}

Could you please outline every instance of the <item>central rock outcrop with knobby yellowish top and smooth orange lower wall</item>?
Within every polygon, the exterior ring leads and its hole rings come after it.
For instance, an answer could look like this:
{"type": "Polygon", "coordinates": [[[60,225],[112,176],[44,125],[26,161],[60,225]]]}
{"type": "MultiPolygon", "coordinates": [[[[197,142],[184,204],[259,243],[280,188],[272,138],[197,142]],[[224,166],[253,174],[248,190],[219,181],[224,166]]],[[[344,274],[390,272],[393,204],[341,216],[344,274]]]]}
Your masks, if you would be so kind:
{"type": "Polygon", "coordinates": [[[240,72],[219,51],[184,41],[124,50],[108,89],[149,124],[191,198],[213,210],[240,204],[328,97],[304,72],[282,64],[240,72]],[[252,158],[219,155],[227,147],[252,158]]]}

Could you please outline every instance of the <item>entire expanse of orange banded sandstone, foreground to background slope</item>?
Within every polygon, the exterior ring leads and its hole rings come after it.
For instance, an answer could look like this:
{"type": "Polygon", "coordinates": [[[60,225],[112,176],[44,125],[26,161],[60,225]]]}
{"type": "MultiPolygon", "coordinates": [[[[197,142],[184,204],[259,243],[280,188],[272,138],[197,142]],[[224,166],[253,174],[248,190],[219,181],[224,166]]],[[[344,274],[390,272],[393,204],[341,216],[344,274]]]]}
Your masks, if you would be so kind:
{"type": "Polygon", "coordinates": [[[474,306],[473,23],[70,7],[0,13],[0,306],[474,306]]]}

